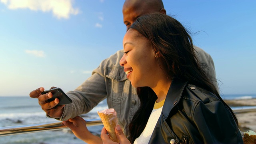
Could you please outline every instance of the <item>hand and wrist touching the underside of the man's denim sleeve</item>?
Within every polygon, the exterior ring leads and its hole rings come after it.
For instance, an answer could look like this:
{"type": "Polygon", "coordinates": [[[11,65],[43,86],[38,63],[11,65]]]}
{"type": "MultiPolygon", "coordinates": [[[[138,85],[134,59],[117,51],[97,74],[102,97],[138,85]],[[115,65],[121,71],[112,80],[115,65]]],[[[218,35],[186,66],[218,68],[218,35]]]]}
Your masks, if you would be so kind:
{"type": "Polygon", "coordinates": [[[102,144],[98,136],[94,136],[86,127],[86,122],[80,116],[63,121],[63,124],[70,128],[74,135],[88,144],[102,144]]]}

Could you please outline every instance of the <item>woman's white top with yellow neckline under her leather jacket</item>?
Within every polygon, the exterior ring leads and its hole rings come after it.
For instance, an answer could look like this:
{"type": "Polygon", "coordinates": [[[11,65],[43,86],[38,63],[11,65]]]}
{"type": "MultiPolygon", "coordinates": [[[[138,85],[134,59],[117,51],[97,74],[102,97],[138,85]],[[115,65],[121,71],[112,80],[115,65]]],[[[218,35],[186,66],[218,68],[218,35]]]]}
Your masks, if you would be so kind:
{"type": "Polygon", "coordinates": [[[162,112],[164,100],[158,103],[155,102],[154,109],[150,114],[147,125],[144,128],[143,132],[140,134],[140,136],[136,138],[136,140],[134,141],[134,144],[148,144],[150,137],[153,133],[153,130],[156,126],[156,122],[158,121],[160,114],[162,112]]]}

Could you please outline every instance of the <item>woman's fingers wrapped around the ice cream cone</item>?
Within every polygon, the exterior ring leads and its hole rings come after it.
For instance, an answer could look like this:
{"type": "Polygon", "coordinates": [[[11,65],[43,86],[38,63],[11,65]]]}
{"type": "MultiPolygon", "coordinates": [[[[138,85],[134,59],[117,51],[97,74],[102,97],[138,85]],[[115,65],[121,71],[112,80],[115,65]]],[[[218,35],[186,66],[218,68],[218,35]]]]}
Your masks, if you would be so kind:
{"type": "MultiPolygon", "coordinates": [[[[119,144],[130,144],[130,141],[124,135],[124,132],[122,131],[119,124],[116,125],[115,131],[116,131],[116,136],[119,140],[119,144]]],[[[118,144],[117,142],[114,142],[110,139],[105,127],[102,128],[100,137],[103,141],[103,144],[118,144]]]]}

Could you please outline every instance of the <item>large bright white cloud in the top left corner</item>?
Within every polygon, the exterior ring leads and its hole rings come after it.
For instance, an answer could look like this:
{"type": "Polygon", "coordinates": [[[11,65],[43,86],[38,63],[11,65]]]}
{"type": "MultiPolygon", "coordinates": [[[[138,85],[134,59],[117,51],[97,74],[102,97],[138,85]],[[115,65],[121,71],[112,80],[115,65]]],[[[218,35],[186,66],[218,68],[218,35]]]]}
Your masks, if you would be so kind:
{"type": "Polygon", "coordinates": [[[80,11],[73,8],[73,0],[1,0],[9,9],[28,8],[34,11],[49,12],[57,18],[68,19],[71,14],[77,15],[80,11]]]}

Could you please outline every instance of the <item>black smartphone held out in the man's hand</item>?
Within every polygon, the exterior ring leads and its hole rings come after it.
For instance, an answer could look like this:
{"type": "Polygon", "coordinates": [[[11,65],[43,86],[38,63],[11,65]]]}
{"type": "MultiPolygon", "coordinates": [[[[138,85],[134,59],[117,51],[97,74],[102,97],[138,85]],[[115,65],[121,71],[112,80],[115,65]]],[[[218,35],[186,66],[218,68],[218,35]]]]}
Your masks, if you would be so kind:
{"type": "Polygon", "coordinates": [[[48,92],[52,93],[52,98],[48,99],[47,100],[48,102],[51,102],[51,101],[55,100],[55,98],[58,98],[60,100],[58,105],[72,103],[72,100],[60,88],[52,88],[50,90],[45,90],[41,94],[46,94],[48,92]]]}

